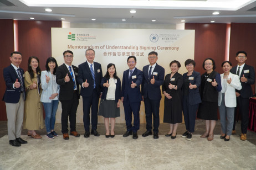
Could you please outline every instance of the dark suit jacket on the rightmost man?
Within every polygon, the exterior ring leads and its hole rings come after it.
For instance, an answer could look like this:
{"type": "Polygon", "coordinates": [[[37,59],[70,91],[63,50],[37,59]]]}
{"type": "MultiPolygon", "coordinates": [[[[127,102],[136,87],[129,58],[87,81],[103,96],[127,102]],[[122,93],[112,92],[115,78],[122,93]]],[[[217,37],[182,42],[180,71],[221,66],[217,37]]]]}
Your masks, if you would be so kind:
{"type": "MultiPolygon", "coordinates": [[[[230,72],[233,73],[234,75],[236,75],[237,74],[237,66],[232,67],[230,72]]],[[[240,81],[241,85],[242,85],[242,89],[240,89],[240,91],[237,91],[237,92],[240,93],[241,97],[249,98],[249,97],[253,96],[252,87],[250,85],[255,83],[254,68],[252,66],[248,66],[247,64],[244,64],[244,67],[243,67],[243,70],[241,72],[240,78],[243,77],[243,75],[244,75],[245,78],[248,79],[248,82],[245,83],[245,82],[240,81]],[[249,72],[247,72],[247,71],[249,71],[249,72]]]]}

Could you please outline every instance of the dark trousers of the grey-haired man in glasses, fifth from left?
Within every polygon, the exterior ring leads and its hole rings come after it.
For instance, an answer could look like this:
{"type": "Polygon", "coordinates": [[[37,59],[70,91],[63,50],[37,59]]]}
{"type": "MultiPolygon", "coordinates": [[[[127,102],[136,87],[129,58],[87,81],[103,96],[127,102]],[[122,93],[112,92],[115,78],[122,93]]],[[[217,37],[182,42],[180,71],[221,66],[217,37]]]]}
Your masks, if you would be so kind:
{"type": "Polygon", "coordinates": [[[90,108],[91,108],[91,129],[96,130],[98,124],[98,106],[99,94],[96,88],[93,90],[93,95],[83,97],[83,110],[84,110],[84,130],[90,131],[90,108]]]}

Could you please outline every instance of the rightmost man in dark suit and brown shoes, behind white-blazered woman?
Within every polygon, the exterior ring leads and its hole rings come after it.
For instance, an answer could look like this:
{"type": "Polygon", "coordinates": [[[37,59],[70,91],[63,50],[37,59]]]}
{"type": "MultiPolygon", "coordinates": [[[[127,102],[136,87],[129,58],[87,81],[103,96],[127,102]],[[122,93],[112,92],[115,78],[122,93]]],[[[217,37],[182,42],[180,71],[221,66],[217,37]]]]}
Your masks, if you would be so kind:
{"type": "MultiPolygon", "coordinates": [[[[231,73],[236,74],[240,77],[242,89],[240,91],[235,90],[237,95],[237,107],[239,107],[239,113],[241,115],[241,140],[247,140],[247,127],[249,123],[249,98],[253,96],[252,87],[250,85],[255,83],[255,71],[252,66],[245,64],[247,60],[247,53],[245,51],[238,51],[235,55],[238,65],[231,68],[231,73]]],[[[234,113],[234,125],[232,134],[235,133],[235,114],[234,113]]]]}

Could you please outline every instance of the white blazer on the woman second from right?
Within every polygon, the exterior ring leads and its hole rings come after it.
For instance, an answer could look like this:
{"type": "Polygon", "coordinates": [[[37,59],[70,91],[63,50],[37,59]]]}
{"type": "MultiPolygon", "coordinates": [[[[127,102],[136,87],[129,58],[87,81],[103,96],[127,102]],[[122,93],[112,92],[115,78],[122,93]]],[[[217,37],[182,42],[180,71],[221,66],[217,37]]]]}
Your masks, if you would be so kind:
{"type": "MultiPolygon", "coordinates": [[[[223,80],[224,73],[221,74],[221,81],[223,80]]],[[[237,75],[232,74],[229,72],[228,79],[231,78],[231,83],[226,84],[225,89],[225,105],[228,108],[234,108],[237,107],[237,97],[235,96],[235,89],[238,91],[242,88],[239,77],[237,75]]],[[[223,81],[222,81],[223,82],[223,81]]],[[[223,87],[223,86],[222,86],[223,87]]],[[[222,92],[219,92],[219,98],[218,98],[218,106],[221,105],[222,100],[222,92]]]]}

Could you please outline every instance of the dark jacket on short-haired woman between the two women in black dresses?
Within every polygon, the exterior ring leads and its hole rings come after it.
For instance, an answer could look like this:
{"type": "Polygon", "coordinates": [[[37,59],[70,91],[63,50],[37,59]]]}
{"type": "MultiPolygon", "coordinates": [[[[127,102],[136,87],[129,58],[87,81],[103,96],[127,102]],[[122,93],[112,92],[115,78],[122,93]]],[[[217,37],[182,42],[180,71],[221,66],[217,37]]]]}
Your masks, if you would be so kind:
{"type": "MultiPolygon", "coordinates": [[[[187,73],[183,74],[183,79],[185,79],[187,76],[187,73]]],[[[192,85],[196,85],[197,88],[188,89],[188,104],[195,105],[198,103],[201,103],[201,97],[199,93],[199,86],[201,84],[201,76],[199,72],[193,71],[191,77],[194,77],[193,79],[190,79],[190,83],[192,85]]]]}

